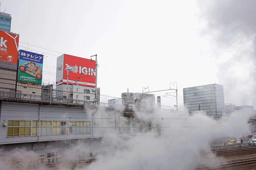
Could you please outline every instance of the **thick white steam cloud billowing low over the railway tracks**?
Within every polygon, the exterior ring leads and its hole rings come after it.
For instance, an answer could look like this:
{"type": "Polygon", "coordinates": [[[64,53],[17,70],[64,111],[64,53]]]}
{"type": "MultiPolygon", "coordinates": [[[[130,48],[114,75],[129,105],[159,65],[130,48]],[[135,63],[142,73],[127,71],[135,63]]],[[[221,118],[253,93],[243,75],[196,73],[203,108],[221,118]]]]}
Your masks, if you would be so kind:
{"type": "Polygon", "coordinates": [[[109,150],[105,148],[108,154],[99,155],[97,162],[82,169],[185,170],[201,163],[212,163],[219,158],[214,154],[202,156],[201,151],[210,149],[210,142],[215,137],[239,138],[249,133],[249,116],[250,112],[235,112],[217,121],[207,117],[204,112],[194,115],[156,114],[155,118],[163,118],[159,119],[162,126],[160,137],[147,133],[126,140],[118,136],[113,136],[110,141],[106,138],[104,142],[113,145],[109,150]],[[117,149],[115,153],[114,148],[117,149]]]}

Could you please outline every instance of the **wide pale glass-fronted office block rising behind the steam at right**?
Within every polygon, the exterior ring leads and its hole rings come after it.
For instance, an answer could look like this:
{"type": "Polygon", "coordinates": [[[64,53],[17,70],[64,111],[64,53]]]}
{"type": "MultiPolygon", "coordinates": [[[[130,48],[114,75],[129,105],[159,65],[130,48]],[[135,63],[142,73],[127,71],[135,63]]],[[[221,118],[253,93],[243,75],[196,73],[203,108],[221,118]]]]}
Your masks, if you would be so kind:
{"type": "Polygon", "coordinates": [[[225,111],[224,88],[220,84],[188,87],[183,89],[184,107],[192,113],[199,110],[212,114],[225,111]]]}

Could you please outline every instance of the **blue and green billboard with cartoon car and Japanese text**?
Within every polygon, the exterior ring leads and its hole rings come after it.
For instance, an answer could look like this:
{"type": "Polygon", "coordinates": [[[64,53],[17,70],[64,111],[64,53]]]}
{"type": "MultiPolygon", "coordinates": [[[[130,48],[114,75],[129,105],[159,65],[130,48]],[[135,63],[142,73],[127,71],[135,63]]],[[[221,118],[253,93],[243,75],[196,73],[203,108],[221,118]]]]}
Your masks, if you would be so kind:
{"type": "Polygon", "coordinates": [[[19,56],[18,80],[42,84],[43,55],[20,50],[19,56]]]}

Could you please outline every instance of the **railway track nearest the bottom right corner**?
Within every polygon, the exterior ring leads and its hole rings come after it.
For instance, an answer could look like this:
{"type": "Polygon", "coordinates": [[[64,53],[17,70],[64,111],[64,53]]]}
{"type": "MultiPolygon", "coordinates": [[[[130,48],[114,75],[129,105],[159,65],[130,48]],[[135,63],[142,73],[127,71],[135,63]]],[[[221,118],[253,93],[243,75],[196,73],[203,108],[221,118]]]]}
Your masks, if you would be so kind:
{"type": "Polygon", "coordinates": [[[256,157],[233,159],[233,160],[227,160],[227,161],[216,162],[216,163],[217,164],[214,164],[214,165],[199,166],[195,169],[196,170],[224,169],[224,168],[231,168],[234,166],[254,164],[256,163],[256,157]],[[242,160],[242,159],[245,159],[245,160],[242,160]]]}

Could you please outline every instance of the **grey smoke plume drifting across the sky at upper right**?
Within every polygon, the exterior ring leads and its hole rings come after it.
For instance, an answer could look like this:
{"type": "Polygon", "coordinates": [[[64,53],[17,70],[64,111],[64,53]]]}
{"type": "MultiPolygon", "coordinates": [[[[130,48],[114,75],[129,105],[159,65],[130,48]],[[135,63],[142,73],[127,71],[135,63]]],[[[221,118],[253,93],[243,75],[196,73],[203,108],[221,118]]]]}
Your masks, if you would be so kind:
{"type": "Polygon", "coordinates": [[[256,1],[198,1],[203,57],[215,58],[225,98],[256,106],[256,1]]]}

